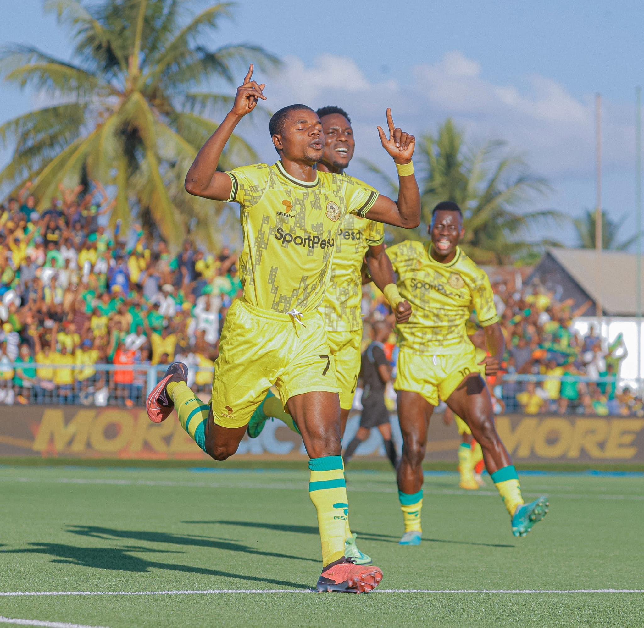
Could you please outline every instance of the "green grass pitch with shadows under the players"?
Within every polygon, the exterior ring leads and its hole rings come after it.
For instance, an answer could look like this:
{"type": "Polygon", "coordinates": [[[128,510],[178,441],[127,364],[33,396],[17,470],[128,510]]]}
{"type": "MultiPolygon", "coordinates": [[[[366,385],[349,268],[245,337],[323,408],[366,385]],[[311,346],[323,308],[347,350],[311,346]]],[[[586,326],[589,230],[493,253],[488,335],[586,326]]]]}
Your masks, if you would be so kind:
{"type": "Polygon", "coordinates": [[[0,591],[117,594],[0,595],[0,616],[112,628],[644,624],[642,593],[562,593],[644,589],[641,474],[524,475],[526,497],[551,501],[526,539],[512,537],[489,478],[468,493],[455,474],[428,474],[422,546],[402,548],[392,472],[350,470],[352,527],[384,571],[382,592],[360,596],[305,593],[320,570],[307,481],[304,469],[0,467],[0,591]],[[498,592],[515,589],[533,592],[498,592]]]}

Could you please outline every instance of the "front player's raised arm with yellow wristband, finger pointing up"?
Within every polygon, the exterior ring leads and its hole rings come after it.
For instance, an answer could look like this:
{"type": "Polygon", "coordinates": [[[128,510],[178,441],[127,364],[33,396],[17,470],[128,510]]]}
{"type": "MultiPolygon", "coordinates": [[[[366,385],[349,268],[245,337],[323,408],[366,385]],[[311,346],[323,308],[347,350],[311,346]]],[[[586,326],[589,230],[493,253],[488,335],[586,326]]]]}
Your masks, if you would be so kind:
{"type": "Polygon", "coordinates": [[[379,223],[413,229],[421,224],[421,191],[413,174],[412,155],[416,138],[393,124],[392,110],[387,109],[389,137],[378,127],[383,148],[393,158],[398,170],[398,200],[379,196],[368,217],[379,223]]]}

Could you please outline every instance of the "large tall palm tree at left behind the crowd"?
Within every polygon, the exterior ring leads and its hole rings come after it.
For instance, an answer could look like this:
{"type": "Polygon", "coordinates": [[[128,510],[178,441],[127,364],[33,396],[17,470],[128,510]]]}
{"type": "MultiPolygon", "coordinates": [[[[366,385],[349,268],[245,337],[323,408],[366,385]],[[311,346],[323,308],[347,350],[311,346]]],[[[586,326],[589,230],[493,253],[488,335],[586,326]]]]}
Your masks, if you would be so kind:
{"type": "MultiPolygon", "coordinates": [[[[176,245],[191,228],[214,243],[213,203],[183,188],[189,164],[217,128],[207,116],[232,102],[204,87],[231,85],[249,60],[263,69],[278,60],[249,44],[205,46],[202,41],[231,17],[232,5],[191,14],[192,3],[46,0],[45,10],[70,31],[73,55],[68,62],[19,44],[0,51],[5,80],[52,103],[0,126],[0,143],[15,145],[0,189],[15,193],[33,180],[44,207],[59,183],[97,180],[115,190],[112,223],[128,225],[134,210],[169,243],[176,245]]],[[[234,136],[220,166],[254,158],[234,136]]]]}

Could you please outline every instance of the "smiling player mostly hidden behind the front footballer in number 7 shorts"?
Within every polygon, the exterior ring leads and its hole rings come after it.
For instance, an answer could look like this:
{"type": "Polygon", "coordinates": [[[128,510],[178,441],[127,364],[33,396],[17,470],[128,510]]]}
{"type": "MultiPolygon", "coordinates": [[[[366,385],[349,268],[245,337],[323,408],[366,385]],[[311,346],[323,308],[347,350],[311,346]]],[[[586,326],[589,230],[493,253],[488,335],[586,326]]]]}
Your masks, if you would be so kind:
{"type": "MultiPolygon", "coordinates": [[[[321,107],[316,113],[322,122],[325,136],[325,150],[318,164],[318,171],[343,174],[353,180],[344,174],[355,149],[354,133],[348,114],[335,106],[321,107]]],[[[346,420],[354,400],[361,363],[363,260],[366,259],[368,272],[374,283],[392,299],[396,320],[406,322],[412,313],[410,304],[397,295],[392,263],[385,253],[383,242],[382,223],[359,215],[346,214],[337,234],[330,281],[321,306],[327,326],[329,351],[333,356],[337,385],[340,389],[341,436],[344,436],[346,420]]],[[[285,412],[281,400],[269,392],[249,422],[248,434],[251,438],[260,435],[269,417],[278,418],[290,429],[299,432],[292,417],[285,412]]],[[[386,427],[389,428],[389,438],[384,441],[385,448],[395,452],[390,426],[387,424],[386,427]]],[[[370,557],[357,548],[355,537],[347,517],[345,557],[355,560],[360,565],[370,564],[370,557]]]]}

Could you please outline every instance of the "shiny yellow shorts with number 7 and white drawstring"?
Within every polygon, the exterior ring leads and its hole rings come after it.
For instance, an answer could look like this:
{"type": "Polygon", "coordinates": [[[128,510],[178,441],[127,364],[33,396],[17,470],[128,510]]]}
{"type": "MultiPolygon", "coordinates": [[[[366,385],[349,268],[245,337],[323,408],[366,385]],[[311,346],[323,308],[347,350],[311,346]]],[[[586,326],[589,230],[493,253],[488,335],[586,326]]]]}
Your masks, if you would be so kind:
{"type": "Polygon", "coordinates": [[[288,314],[232,302],[214,363],[213,416],[222,427],[243,427],[275,385],[286,402],[312,391],[339,393],[322,315],[288,314]]]}

